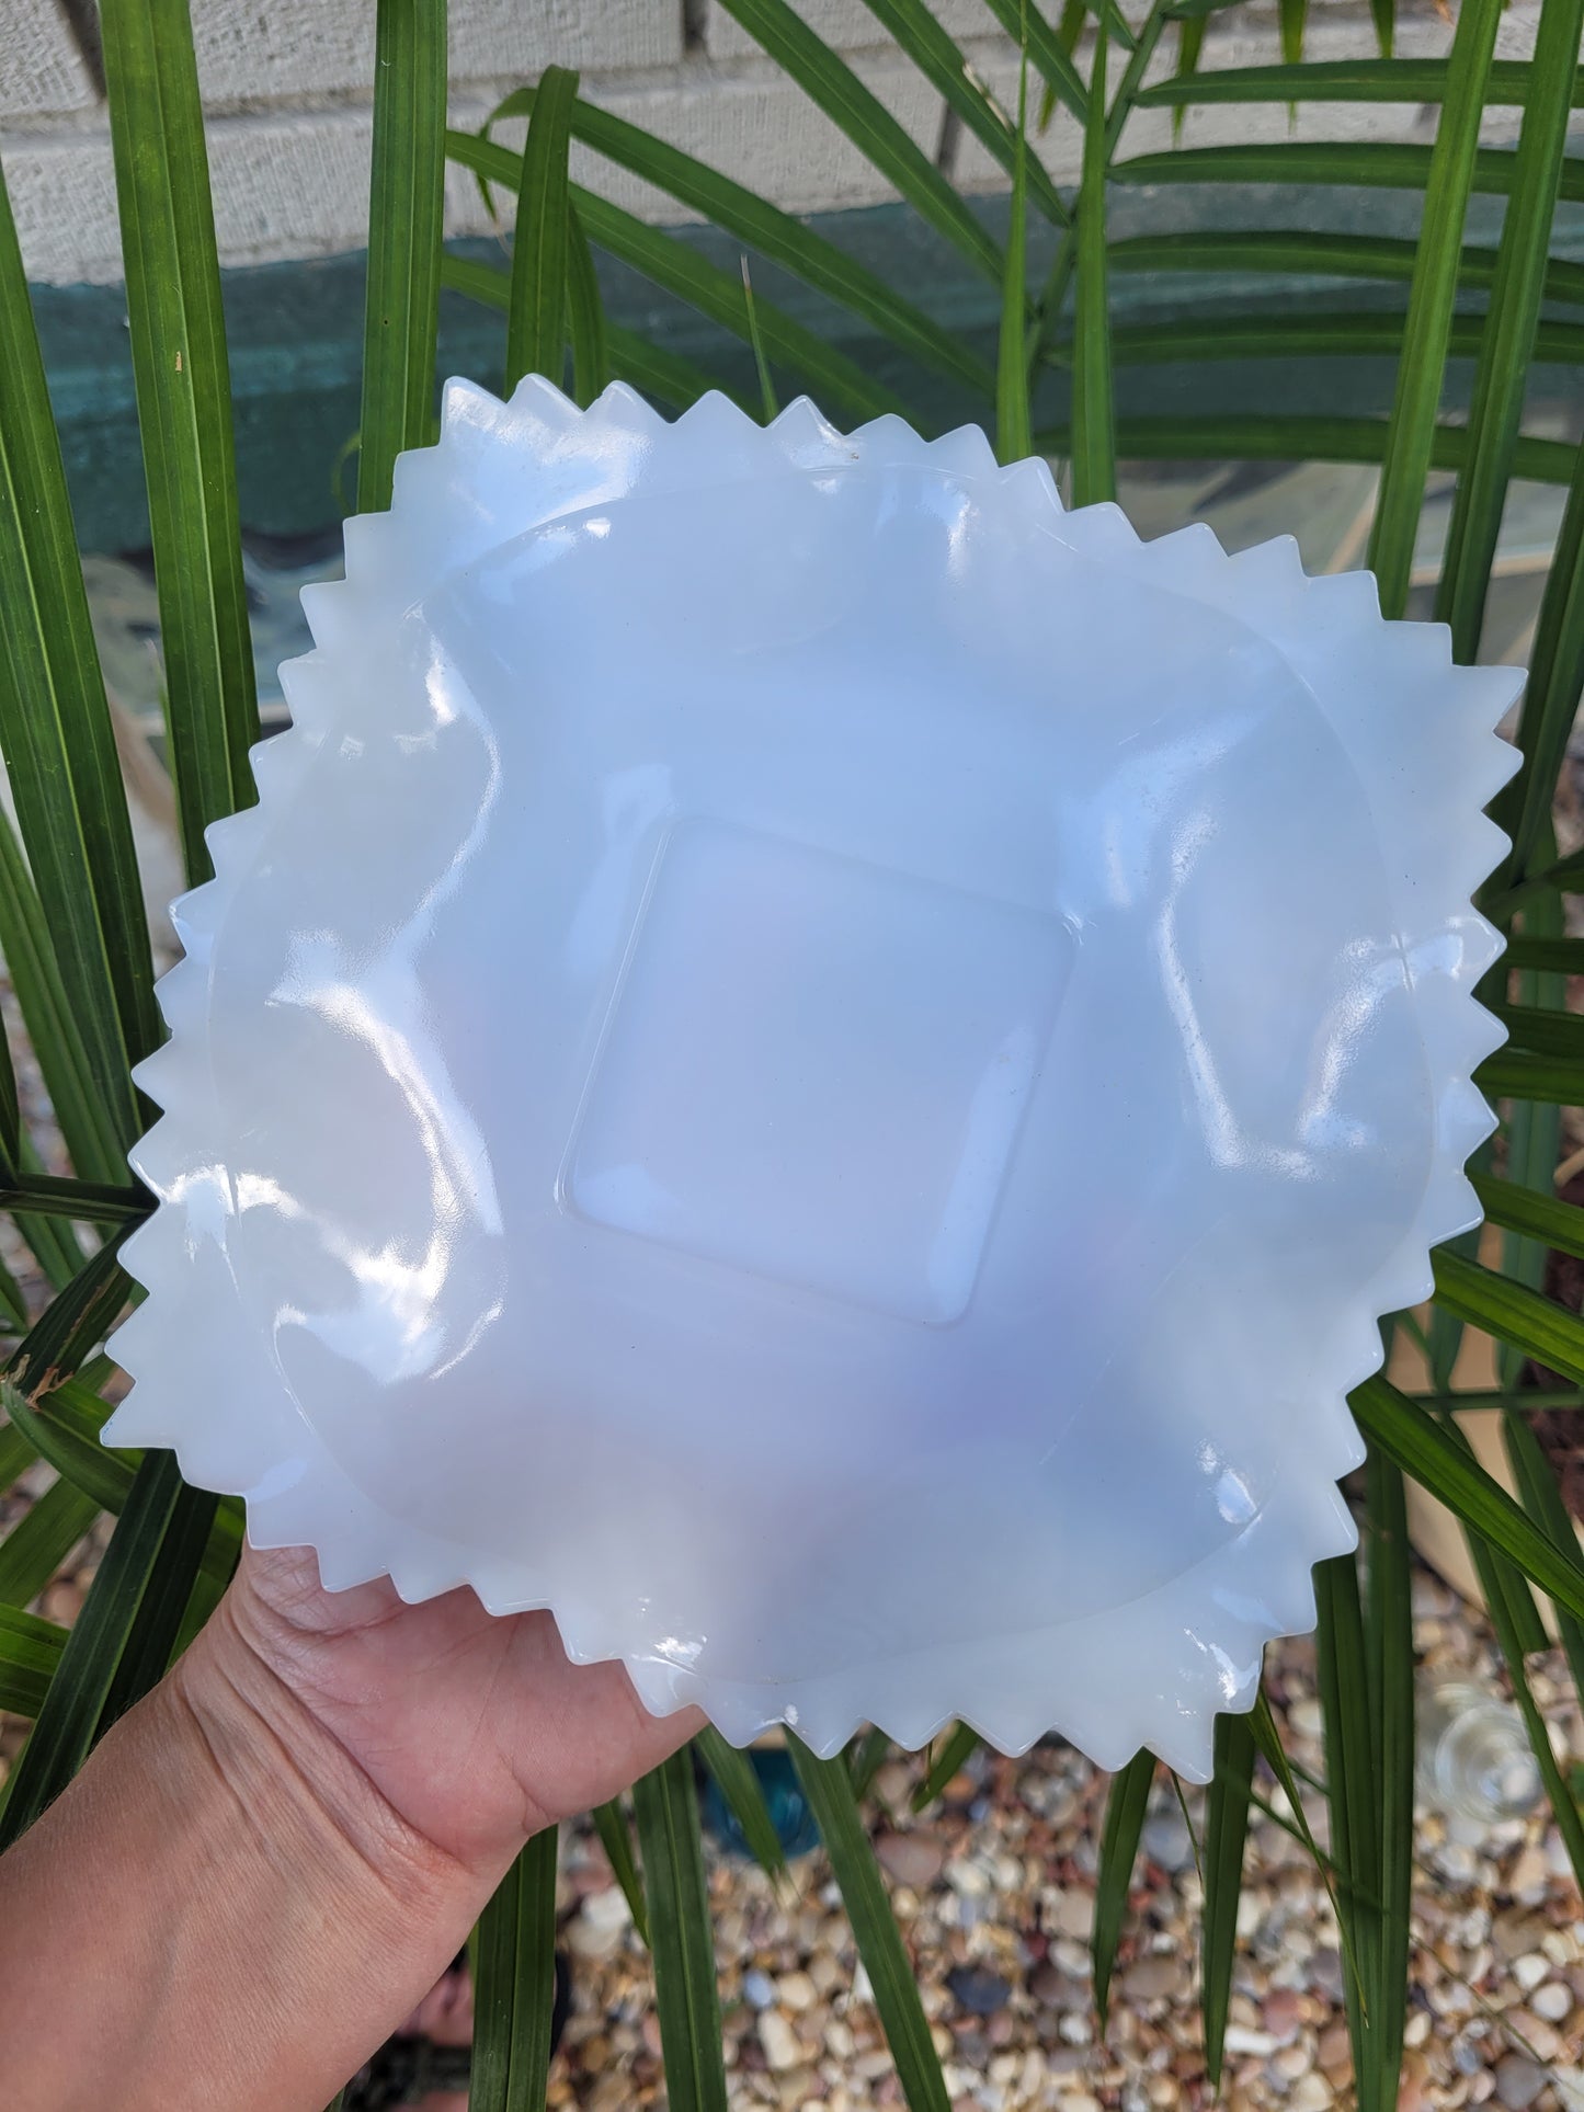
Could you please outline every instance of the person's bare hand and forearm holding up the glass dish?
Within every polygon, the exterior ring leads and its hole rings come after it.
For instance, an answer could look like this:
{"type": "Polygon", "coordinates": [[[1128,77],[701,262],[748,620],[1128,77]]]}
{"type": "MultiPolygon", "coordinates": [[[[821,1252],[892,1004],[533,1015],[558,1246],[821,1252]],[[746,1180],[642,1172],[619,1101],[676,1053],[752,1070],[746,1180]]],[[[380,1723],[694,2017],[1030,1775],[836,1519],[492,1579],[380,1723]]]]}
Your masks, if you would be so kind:
{"type": "Polygon", "coordinates": [[[313,1554],[249,1548],[0,1859],[6,2106],[319,2112],[524,1840],[697,1721],[646,1715],[619,1664],[568,1664],[547,1614],[334,1595],[313,1554]]]}

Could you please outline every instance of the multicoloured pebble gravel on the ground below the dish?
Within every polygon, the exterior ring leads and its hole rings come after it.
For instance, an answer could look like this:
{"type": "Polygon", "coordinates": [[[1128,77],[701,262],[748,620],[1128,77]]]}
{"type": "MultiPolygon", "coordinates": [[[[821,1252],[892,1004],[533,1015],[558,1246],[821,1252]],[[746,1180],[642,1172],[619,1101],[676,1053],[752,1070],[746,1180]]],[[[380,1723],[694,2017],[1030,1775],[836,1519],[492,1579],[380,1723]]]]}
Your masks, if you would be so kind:
{"type": "MultiPolygon", "coordinates": [[[[1489,1635],[1430,1576],[1415,1580],[1417,1643],[1432,1671],[1500,1690],[1489,1635]]],[[[1293,1757],[1322,1772],[1314,1645],[1269,1652],[1293,1757]]],[[[1584,1759],[1561,1664],[1531,1660],[1563,1764],[1584,1759]]],[[[1210,2112],[1198,2011],[1200,1878],[1176,1795],[1155,1789],[1102,2036],[1090,1990],[1094,1873],[1109,1776],[1058,1742],[984,1755],[929,1812],[908,1799],[923,1759],[876,1780],[876,1854],[923,1992],[953,2112],[1210,2112]],[[978,1816],[976,1816],[978,1814],[978,1816]]],[[[1204,1837],[1204,1797],[1189,1791],[1204,1837]]],[[[1324,1846],[1324,1810],[1309,1806],[1324,1846]]],[[[722,2036],[733,2112],[902,2106],[868,1979],[824,1856],[779,1892],[708,1846],[722,2036]]],[[[608,1886],[598,1840],[568,1829],[568,1926],[608,1886]]],[[[1227,2112],[1347,2108],[1343,1962],[1326,1888],[1299,1842],[1255,1810],[1227,2021],[1227,2112]]],[[[1398,2112],[1500,2106],[1584,2112],[1584,1911],[1548,1814],[1457,1837],[1417,1818],[1413,1964],[1398,2112]],[[1462,1850],[1462,1852],[1447,1852],[1462,1850]]],[[[551,2104],[663,2106],[644,2040],[653,1992],[629,1926],[579,1962],[551,2104]],[[585,2049],[593,2049],[589,2055],[585,2049]]]]}

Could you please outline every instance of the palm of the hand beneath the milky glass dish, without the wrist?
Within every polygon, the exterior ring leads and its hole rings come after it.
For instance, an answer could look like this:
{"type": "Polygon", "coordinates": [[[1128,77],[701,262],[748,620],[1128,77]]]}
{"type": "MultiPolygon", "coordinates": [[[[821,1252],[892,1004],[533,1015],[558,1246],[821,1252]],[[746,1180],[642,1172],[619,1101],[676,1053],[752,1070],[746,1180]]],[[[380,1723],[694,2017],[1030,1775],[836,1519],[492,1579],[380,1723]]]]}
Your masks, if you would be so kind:
{"type": "Polygon", "coordinates": [[[676,1751],[619,1664],[574,1666],[549,1614],[486,1614],[471,1590],[406,1605],[389,1582],[327,1592],[304,1548],[243,1552],[220,1620],[460,1863],[515,1854],[676,1751]]]}

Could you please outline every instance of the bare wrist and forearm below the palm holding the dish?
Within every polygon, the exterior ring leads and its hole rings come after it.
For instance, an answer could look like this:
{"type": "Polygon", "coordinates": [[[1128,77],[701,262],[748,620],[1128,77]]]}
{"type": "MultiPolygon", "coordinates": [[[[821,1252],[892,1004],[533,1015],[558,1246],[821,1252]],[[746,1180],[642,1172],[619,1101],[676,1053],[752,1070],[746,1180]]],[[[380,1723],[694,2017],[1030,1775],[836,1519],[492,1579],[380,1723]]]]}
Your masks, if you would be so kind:
{"type": "Polygon", "coordinates": [[[0,1863],[6,2104],[319,2112],[488,1890],[220,1620],[0,1863]]]}

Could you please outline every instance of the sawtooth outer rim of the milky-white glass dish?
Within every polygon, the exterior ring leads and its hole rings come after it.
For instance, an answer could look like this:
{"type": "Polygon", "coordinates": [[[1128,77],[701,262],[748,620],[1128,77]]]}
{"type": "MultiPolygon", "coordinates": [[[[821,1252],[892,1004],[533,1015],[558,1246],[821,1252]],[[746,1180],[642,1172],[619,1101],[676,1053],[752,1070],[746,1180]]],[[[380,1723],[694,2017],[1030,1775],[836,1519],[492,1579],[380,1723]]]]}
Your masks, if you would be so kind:
{"type": "Polygon", "coordinates": [[[1470,895],[1506,847],[1478,809],[1519,765],[1493,729],[1523,684],[1521,672],[1455,667],[1442,625],[1388,623],[1366,572],[1314,579],[1290,539],[1227,555],[1206,526],[1145,543],[1113,505],[1069,513],[1043,460],[1001,467],[976,427],[927,441],[902,418],[879,418],[845,435],[807,399],[758,427],[720,395],[665,422],[623,384],[579,410],[539,376],[524,380],[509,403],[471,382],[448,382],[439,444],[401,456],[391,511],[346,524],[346,577],[304,589],[304,608],[315,650],[281,670],[291,729],[251,752],[260,803],[205,832],[213,879],[171,910],[184,959],[158,984],[169,1041],[135,1073],[165,1115],[131,1153],[161,1204],[122,1248],[148,1299],[112,1339],[137,1383],[106,1440],[173,1447],[188,1478],[247,1495],[256,1544],[313,1546],[332,1588],[389,1576],[410,1601],[471,1584],[496,1614],[547,1605],[574,1660],[621,1658],[650,1711],[701,1702],[737,1742],[784,1721],[817,1753],[832,1753],[872,1721],[898,1745],[919,1747],[963,1717],[1007,1753],[1056,1730],[1100,1766],[1119,1766],[1147,1745],[1181,1774],[1208,1778],[1214,1713],[1252,1704],[1263,1645],[1314,1626],[1312,1565],[1354,1546],[1335,1483],[1362,1457],[1345,1396],[1379,1369],[1377,1320],[1423,1299],[1432,1286],[1430,1248],[1478,1223],[1464,1162],[1495,1117],[1472,1071],[1504,1031],[1474,999],[1474,984],[1502,940],[1472,910],[1470,895]],[[1031,1677],[1031,1637],[931,1652],[929,1687],[940,1704],[919,1702],[917,1668],[906,1658],[775,1690],[699,1679],[682,1664],[623,1647],[577,1590],[549,1578],[524,1588],[522,1569],[492,1565],[389,1516],[283,1398],[270,1350],[251,1324],[243,1318],[241,1341],[234,1331],[222,1339],[226,1322],[218,1314],[234,1303],[234,1284],[215,1261],[218,1242],[203,1238],[230,1214],[226,1174],[211,1157],[213,944],[270,815],[291,798],[336,727],[342,655],[361,655],[370,636],[399,621],[441,577],[498,543],[619,503],[640,486],[648,496],[855,465],[929,467],[969,479],[986,505],[1016,509],[1031,528],[1054,532],[1090,560],[1223,610],[1284,655],[1366,788],[1436,1105],[1438,1155],[1415,1221],[1371,1286],[1337,1316],[1324,1373],[1303,1402],[1314,1434],[1312,1478],[1278,1483],[1236,1540],[1168,1586],[1048,1630],[1041,1679],[1031,1677]],[[1371,691],[1379,697],[1383,659],[1404,697],[1400,712],[1364,705],[1371,691]],[[1434,748],[1415,737],[1421,710],[1407,708],[1407,699],[1421,708],[1426,697],[1436,699],[1445,727],[1434,748]],[[148,1369],[144,1379],[139,1364],[148,1369]],[[220,1398],[224,1417],[213,1413],[220,1398]],[[291,1466],[283,1466],[287,1457],[291,1466]],[[1121,1700],[1117,1662],[1130,1666],[1121,1700]]]}

